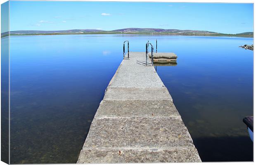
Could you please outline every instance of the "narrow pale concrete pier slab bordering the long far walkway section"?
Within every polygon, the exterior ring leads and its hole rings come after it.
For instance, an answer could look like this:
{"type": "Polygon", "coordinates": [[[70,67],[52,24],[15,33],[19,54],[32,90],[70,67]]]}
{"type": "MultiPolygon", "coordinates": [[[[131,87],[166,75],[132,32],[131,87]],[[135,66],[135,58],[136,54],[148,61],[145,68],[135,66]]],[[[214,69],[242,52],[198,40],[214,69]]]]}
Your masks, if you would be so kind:
{"type": "Polygon", "coordinates": [[[104,100],[173,100],[166,87],[108,87],[104,100]]]}

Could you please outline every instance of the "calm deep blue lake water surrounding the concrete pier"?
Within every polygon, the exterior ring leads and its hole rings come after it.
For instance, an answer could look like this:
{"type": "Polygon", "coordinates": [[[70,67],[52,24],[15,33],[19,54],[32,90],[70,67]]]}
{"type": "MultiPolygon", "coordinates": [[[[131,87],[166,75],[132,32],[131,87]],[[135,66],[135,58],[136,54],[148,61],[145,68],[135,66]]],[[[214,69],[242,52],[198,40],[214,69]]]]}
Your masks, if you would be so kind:
{"type": "Polygon", "coordinates": [[[201,160],[253,161],[242,122],[253,115],[253,51],[238,47],[253,38],[46,35],[10,37],[11,163],[76,163],[123,41],[144,52],[156,38],[158,52],[178,55],[156,70],[201,160]]]}

